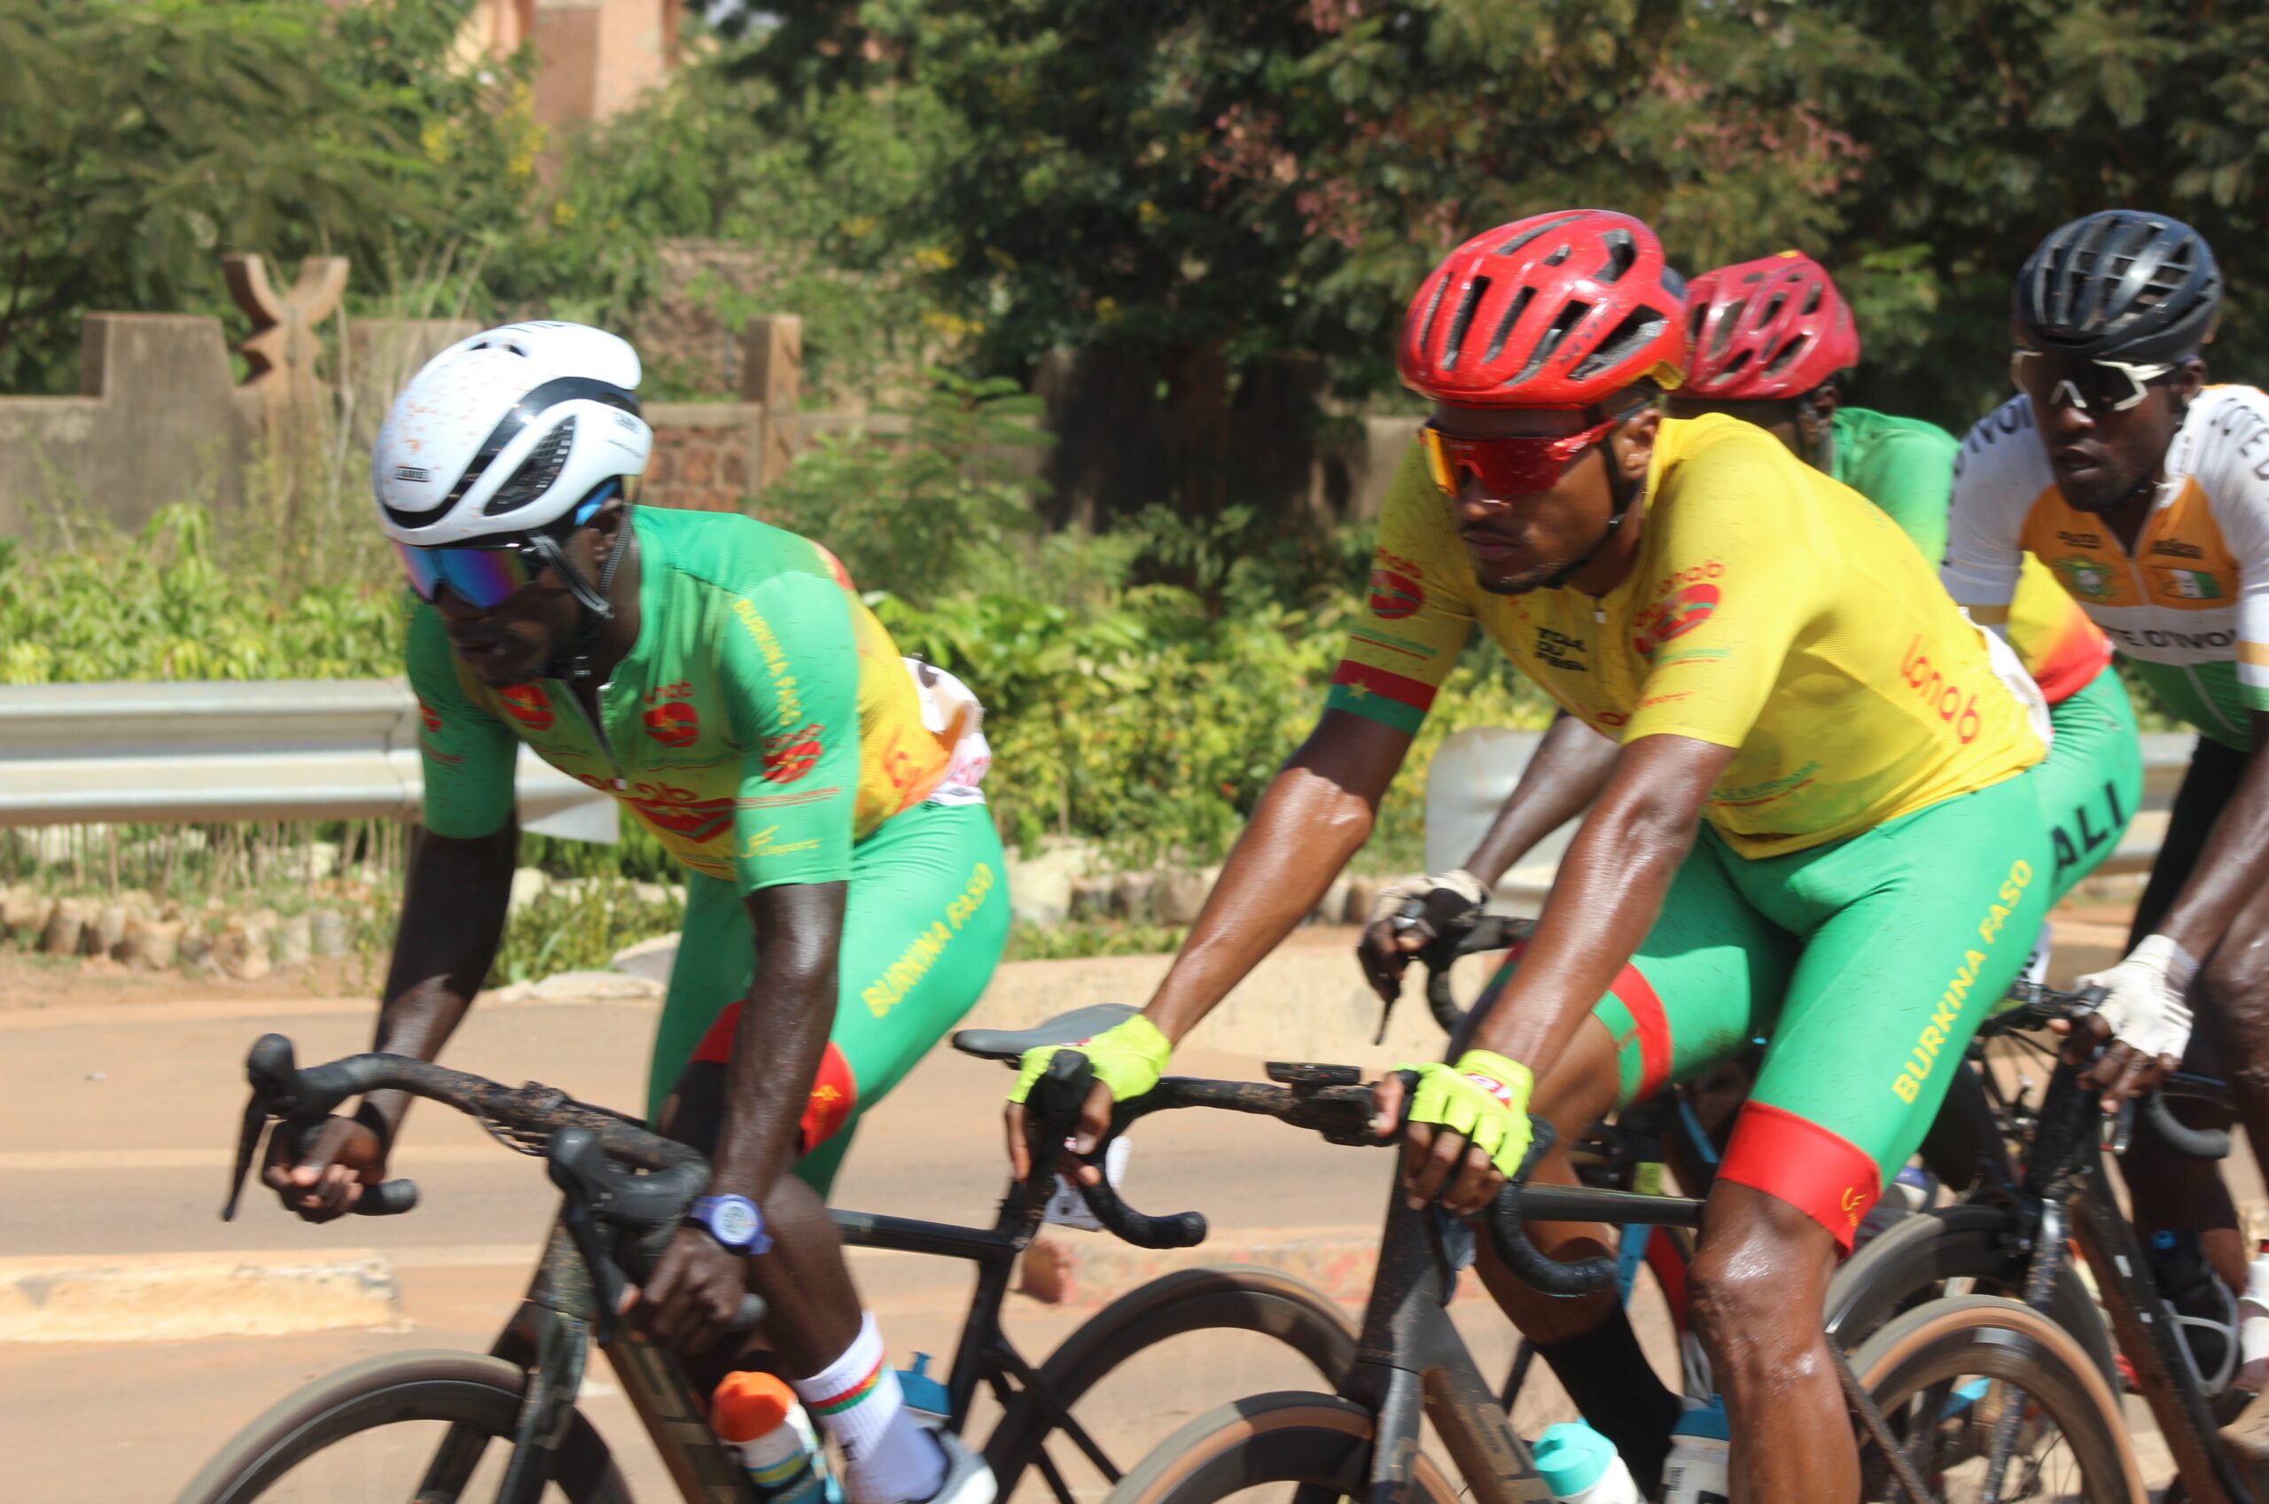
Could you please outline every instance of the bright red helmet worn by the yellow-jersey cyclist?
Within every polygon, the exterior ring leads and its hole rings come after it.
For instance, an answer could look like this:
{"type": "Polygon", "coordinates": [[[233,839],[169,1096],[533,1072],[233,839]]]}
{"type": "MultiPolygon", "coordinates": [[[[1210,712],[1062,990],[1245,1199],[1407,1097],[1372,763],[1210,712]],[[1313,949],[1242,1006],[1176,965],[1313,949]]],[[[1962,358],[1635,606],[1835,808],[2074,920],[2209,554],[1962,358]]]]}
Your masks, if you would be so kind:
{"type": "Polygon", "coordinates": [[[1402,320],[1402,383],[1434,402],[1591,408],[1686,365],[1679,274],[1627,213],[1500,225],[1434,268],[1402,320]]]}

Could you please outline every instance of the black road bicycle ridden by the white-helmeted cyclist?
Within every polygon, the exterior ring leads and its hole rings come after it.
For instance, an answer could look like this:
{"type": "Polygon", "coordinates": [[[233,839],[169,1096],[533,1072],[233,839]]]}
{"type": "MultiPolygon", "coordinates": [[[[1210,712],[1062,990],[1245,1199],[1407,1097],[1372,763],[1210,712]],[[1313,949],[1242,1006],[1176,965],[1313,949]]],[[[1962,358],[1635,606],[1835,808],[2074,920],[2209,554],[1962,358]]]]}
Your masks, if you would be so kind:
{"type": "MultiPolygon", "coordinates": [[[[1110,1019],[1123,1012],[1114,1009],[1110,1019]]],[[[1098,1028],[1107,1021],[1098,1023],[1096,1009],[1078,1009],[1035,1030],[964,1030],[955,1046],[1014,1059],[1041,1043],[1087,1039],[1098,1028]]],[[[465,1112],[508,1148],[542,1157],[560,1189],[560,1214],[526,1298],[486,1354],[399,1352],[315,1379],[229,1440],[179,1495],[182,1504],[331,1504],[365,1497],[626,1504],[631,1493],[622,1470],[597,1427],[576,1409],[592,1345],[606,1352],[688,1504],[756,1502],[740,1463],[708,1429],[706,1397],[692,1388],[678,1359],[647,1341],[638,1323],[615,1316],[626,1282],[651,1266],[703,1191],[708,1164],[699,1152],[554,1087],[501,1087],[399,1055],[352,1055],[297,1068],[290,1041],[268,1034],[252,1046],[245,1073],[252,1098],[222,1216],[234,1214],[270,1121],[275,1132],[306,1134],[340,1102],[388,1089],[465,1112]]],[[[1053,1134],[1055,1143],[1071,1123],[1073,1112],[1035,1114],[1035,1132],[1053,1134]]],[[[1053,1157],[1046,1157],[1035,1164],[1030,1182],[1010,1184],[992,1227],[835,1214],[851,1248],[976,1266],[969,1316],[946,1372],[946,1425],[955,1431],[967,1427],[980,1391],[1001,1404],[982,1452],[1003,1499],[1028,1472],[1057,1504],[1116,1484],[1121,1461],[1098,1440],[1096,1427],[1082,1422],[1082,1400],[1096,1395],[1114,1370],[1178,1336],[1259,1334],[1273,1357],[1296,1354],[1300,1366],[1327,1382],[1352,1366],[1352,1327],[1330,1300],[1298,1279],[1250,1266],[1191,1268],[1153,1279],[1089,1318],[1035,1366],[1001,1329],[1001,1307],[1017,1257],[1037,1232],[1053,1189],[1053,1157]],[[1087,1468],[1098,1481],[1080,1488],[1069,1477],[1071,1468],[1087,1468]]],[[[402,1214],[415,1202],[415,1184],[395,1180],[365,1186],[356,1211],[402,1214]]],[[[1187,1248],[1205,1236],[1205,1220],[1193,1214],[1134,1220],[1107,1189],[1089,1193],[1089,1202],[1100,1202],[1098,1218],[1107,1227],[1148,1245],[1187,1248]]],[[[762,1304],[751,1295],[735,1325],[756,1327],[760,1320],[762,1304]]]]}

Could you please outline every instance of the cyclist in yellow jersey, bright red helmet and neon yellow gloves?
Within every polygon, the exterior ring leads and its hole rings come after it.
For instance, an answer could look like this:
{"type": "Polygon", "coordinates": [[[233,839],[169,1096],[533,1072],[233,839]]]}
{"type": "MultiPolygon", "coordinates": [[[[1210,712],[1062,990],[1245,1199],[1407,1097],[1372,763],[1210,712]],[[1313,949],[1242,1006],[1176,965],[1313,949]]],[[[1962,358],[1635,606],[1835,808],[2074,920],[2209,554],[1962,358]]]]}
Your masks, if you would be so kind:
{"type": "MultiPolygon", "coordinates": [[[[1402,1189],[1475,1211],[1522,1164],[1532,1107],[1566,1137],[1770,1034],[1693,1311],[1734,1497],[1849,1499],[1820,1302],[2040,923],[2053,857],[2024,774],[2044,712],[1856,492],[1749,424],[1663,417],[1684,363],[1679,281],[1620,213],[1504,225],[1418,288],[1400,367],[1434,411],[1380,517],[1368,612],[1166,980],[1080,1046],[1100,1087],[1076,1148],[1355,855],[1479,624],[1620,746],[1518,966],[1452,1062],[1409,1066],[1402,1189]]],[[[1380,1098],[1389,1132],[1400,1084],[1380,1098]]],[[[1572,1182],[1563,1155],[1536,1175],[1572,1182]]],[[[1602,1236],[1536,1234],[1563,1257],[1602,1236]]],[[[1629,1386],[1611,1298],[1541,1300],[1486,1257],[1482,1275],[1579,1406],[1629,1386]]],[[[1668,1438],[1629,1440],[1634,1475],[1659,1475],[1668,1438]]]]}

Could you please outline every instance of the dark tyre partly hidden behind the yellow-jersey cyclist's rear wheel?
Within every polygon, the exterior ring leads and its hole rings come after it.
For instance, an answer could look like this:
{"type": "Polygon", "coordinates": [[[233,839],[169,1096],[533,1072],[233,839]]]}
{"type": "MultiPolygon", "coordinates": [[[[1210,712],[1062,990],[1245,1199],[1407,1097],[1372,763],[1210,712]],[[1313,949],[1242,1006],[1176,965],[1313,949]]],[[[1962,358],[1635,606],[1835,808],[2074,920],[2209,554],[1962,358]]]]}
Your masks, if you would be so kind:
{"type": "MultiPolygon", "coordinates": [[[[1947,1279],[1979,1279],[1988,1286],[1985,1295],[2022,1298],[2028,1259],[2013,1248],[2013,1220],[2001,1207],[1935,1207],[1901,1218],[1836,1270],[1827,1298],[1829,1336],[1849,1350],[1901,1311],[1938,1300],[1947,1279]]],[[[2119,1393],[2112,1334],[2069,1259],[2056,1270],[2049,1318],[2119,1393]]]]}

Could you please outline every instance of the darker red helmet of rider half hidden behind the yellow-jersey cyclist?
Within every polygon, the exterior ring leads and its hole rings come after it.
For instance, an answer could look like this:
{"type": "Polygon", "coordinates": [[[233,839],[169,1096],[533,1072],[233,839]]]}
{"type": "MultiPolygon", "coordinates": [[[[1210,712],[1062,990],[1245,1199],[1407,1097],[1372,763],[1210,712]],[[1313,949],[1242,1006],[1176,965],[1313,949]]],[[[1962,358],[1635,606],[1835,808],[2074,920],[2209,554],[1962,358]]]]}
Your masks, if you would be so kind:
{"type": "Polygon", "coordinates": [[[1702,272],[1686,288],[1686,395],[1802,397],[1858,365],[1858,329],[1827,268],[1804,252],[1702,272]]]}

